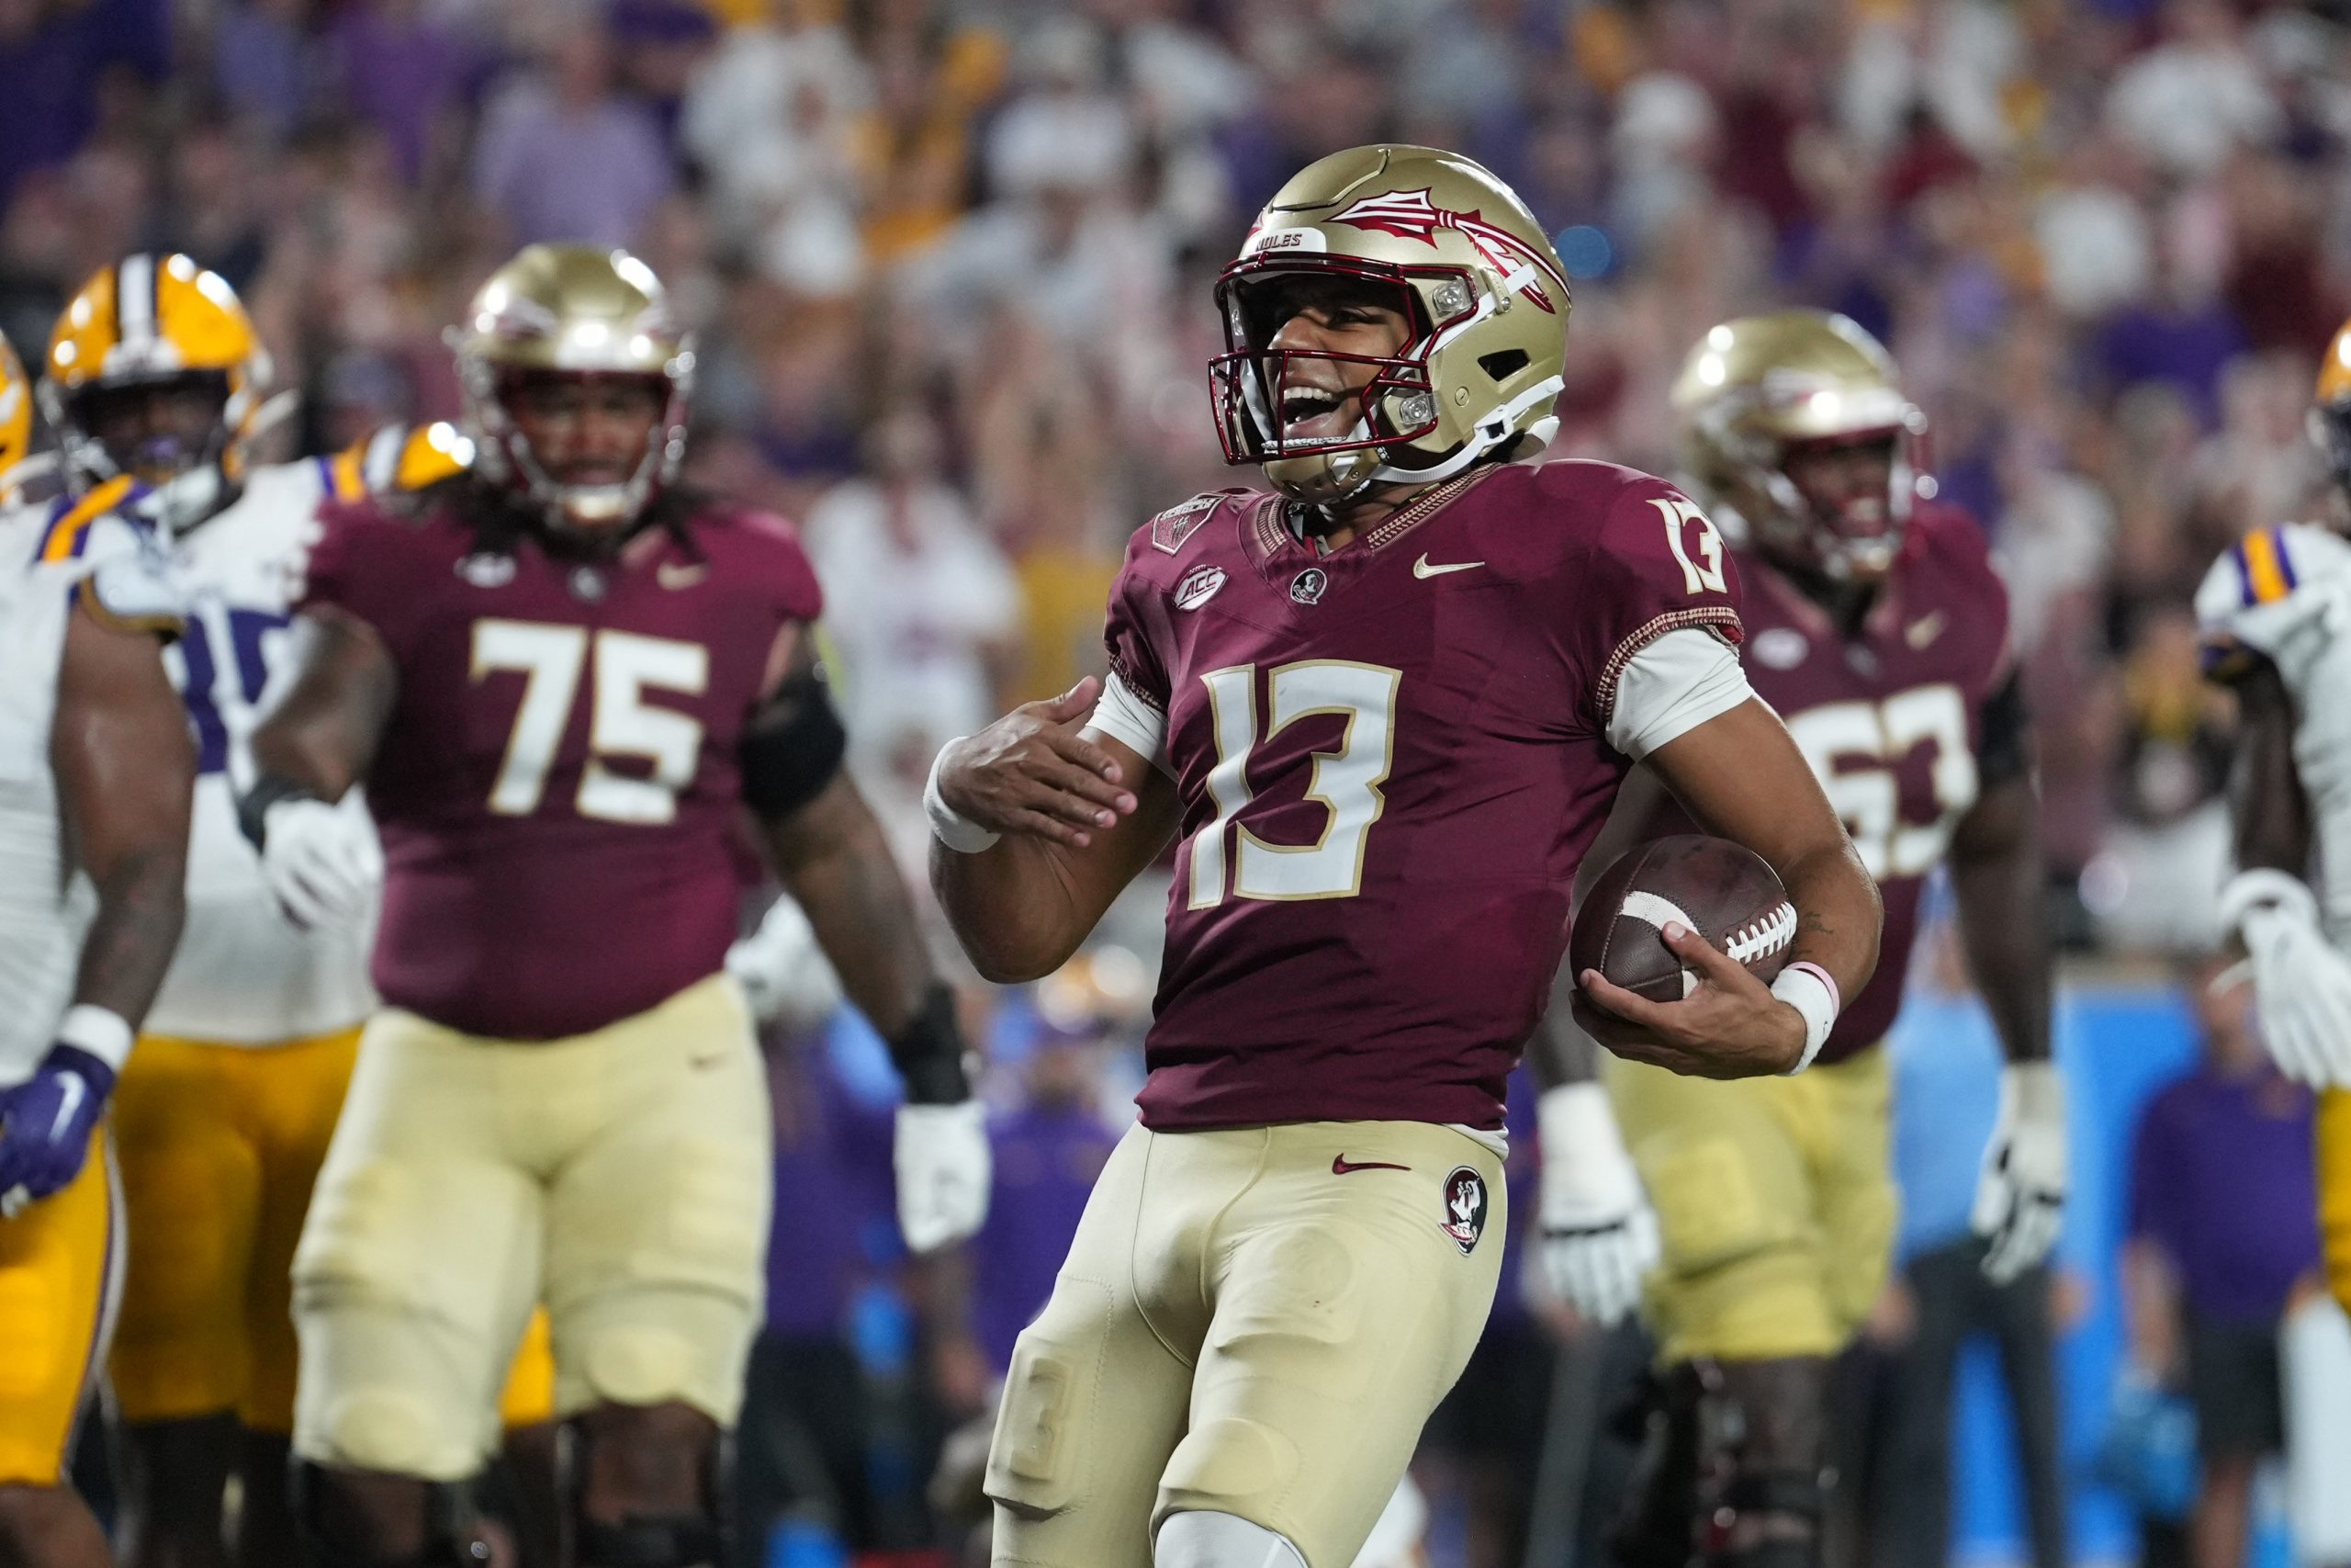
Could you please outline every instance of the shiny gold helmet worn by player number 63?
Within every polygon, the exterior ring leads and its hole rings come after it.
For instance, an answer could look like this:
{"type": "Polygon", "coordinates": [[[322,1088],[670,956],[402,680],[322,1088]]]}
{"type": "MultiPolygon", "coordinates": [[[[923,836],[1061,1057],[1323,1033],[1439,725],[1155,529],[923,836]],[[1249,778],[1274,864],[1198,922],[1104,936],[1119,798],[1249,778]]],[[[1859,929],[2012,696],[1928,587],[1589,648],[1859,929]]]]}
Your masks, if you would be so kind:
{"type": "Polygon", "coordinates": [[[1681,463],[1697,501],[1759,548],[1831,583],[1869,583],[1902,550],[1921,480],[1925,416],[1895,386],[1895,362],[1827,310],[1747,315],[1707,329],[1674,376],[1681,463]],[[1787,475],[1803,447],[1893,442],[1878,505],[1822,512],[1787,475]]]}

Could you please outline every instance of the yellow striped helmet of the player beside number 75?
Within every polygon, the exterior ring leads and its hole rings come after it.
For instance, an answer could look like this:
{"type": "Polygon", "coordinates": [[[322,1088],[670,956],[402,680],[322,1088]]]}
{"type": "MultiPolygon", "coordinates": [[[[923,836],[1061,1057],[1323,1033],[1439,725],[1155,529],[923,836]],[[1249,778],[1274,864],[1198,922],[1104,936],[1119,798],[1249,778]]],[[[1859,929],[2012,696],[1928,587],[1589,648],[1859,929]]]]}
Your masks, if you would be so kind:
{"type": "Polygon", "coordinates": [[[49,334],[40,407],[56,430],[66,484],[129,475],[158,491],[160,522],[193,527],[245,480],[270,357],[237,292],[181,254],[136,254],[96,273],[49,334]],[[106,437],[125,400],[181,388],[216,404],[205,430],[106,437]]]}

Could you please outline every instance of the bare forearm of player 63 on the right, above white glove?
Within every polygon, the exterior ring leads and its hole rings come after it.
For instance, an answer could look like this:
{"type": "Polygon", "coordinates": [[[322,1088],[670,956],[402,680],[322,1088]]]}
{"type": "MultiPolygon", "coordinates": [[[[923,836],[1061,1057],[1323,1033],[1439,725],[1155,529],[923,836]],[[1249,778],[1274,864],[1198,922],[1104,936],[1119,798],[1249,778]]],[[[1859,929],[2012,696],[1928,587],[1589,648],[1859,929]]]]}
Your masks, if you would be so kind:
{"type": "Polygon", "coordinates": [[[1958,818],[1951,896],[1968,969],[2012,1063],[2050,1053],[2050,943],[2041,910],[2041,795],[2029,773],[2003,778],[1958,818]]]}

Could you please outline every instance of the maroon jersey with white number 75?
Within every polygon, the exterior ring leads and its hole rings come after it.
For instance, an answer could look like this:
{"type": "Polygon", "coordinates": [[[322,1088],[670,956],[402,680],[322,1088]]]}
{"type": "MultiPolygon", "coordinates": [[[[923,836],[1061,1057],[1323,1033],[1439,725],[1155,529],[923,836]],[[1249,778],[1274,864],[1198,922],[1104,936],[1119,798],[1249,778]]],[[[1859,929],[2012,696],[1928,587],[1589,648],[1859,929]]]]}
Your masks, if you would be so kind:
{"type": "Polygon", "coordinates": [[[820,604],[790,527],[703,510],[590,567],[402,505],[327,508],[303,592],[371,623],[400,668],[367,776],[376,990],[454,1030],[555,1039],[717,973],[736,741],[820,604]]]}

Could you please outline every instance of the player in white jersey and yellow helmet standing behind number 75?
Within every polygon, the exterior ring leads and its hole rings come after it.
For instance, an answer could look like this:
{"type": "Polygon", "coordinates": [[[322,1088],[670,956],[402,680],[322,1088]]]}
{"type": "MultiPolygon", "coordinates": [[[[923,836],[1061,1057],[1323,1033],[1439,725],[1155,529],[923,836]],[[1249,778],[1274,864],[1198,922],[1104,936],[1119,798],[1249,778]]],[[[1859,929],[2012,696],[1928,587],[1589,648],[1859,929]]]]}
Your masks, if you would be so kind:
{"type": "MultiPolygon", "coordinates": [[[[115,1112],[132,1258],[110,1366],[129,1434],[125,1561],[292,1566],[289,1267],[374,1009],[381,851],[353,797],[273,832],[263,860],[237,830],[235,790],[252,783],[247,733],[320,503],[357,498],[369,456],[388,482],[430,482],[463,454],[418,433],[381,454],[254,463],[268,353],[235,292],[188,256],[129,256],[82,284],[45,371],[66,498],[40,555],[87,555],[85,520],[136,496],[188,590],[169,658],[197,745],[188,933],[115,1112]],[[245,1507],[223,1556],[230,1469],[245,1507]]],[[[527,1425],[552,1410],[552,1363],[541,1347],[524,1368],[508,1415],[527,1425]]]]}

